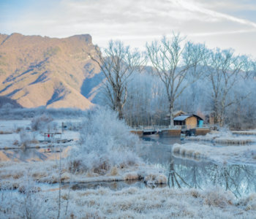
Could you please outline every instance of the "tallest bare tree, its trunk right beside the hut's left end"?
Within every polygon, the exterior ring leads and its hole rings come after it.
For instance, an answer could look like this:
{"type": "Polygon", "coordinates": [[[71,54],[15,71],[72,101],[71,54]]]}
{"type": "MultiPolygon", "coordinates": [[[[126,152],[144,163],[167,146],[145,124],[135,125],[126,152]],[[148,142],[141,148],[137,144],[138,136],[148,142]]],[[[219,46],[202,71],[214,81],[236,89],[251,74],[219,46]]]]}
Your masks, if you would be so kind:
{"type": "Polygon", "coordinates": [[[146,44],[148,56],[165,84],[169,102],[170,127],[173,127],[173,104],[181,93],[198,80],[204,71],[204,58],[207,55],[205,45],[183,43],[186,37],[173,34],[172,39],[162,37],[161,43],[155,41],[146,44]]]}

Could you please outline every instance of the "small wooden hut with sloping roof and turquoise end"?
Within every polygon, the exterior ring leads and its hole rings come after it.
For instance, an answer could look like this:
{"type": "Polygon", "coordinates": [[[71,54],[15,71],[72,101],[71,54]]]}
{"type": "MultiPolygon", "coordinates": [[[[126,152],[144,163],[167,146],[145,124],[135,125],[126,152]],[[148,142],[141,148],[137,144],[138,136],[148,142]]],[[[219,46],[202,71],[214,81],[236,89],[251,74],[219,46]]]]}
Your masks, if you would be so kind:
{"type": "Polygon", "coordinates": [[[195,114],[182,114],[173,119],[174,126],[203,127],[203,118],[195,114]]]}

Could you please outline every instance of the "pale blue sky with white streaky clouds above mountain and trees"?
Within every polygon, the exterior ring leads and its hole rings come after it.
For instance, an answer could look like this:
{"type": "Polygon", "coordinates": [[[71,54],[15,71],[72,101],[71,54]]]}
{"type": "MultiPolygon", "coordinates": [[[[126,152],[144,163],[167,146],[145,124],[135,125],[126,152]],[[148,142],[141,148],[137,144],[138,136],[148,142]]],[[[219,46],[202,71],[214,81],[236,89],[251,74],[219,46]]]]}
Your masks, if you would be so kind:
{"type": "Polygon", "coordinates": [[[256,58],[256,0],[0,0],[1,34],[90,34],[100,47],[121,39],[144,50],[178,32],[256,58]]]}

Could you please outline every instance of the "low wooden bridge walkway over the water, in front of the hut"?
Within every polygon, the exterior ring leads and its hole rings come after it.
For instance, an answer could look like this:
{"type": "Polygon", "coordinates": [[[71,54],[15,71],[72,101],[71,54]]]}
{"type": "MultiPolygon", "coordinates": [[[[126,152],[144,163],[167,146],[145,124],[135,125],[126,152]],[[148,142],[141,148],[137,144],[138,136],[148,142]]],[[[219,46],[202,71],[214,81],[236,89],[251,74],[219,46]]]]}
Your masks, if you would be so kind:
{"type": "Polygon", "coordinates": [[[131,132],[138,134],[139,137],[147,135],[156,135],[159,137],[181,137],[181,134],[186,135],[206,135],[210,130],[208,125],[196,125],[196,126],[132,126],[131,132]]]}

